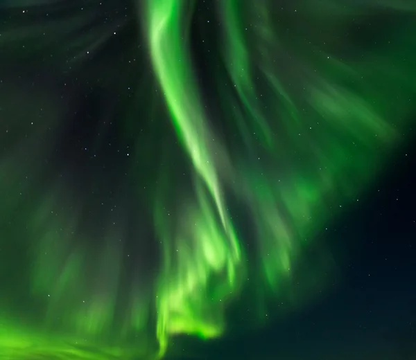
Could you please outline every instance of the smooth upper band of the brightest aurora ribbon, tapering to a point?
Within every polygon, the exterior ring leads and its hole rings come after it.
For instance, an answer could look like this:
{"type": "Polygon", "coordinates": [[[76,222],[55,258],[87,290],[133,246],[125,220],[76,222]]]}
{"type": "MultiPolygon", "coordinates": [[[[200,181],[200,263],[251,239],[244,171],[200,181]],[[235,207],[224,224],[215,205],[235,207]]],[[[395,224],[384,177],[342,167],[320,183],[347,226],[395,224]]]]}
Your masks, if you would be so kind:
{"type": "Polygon", "coordinates": [[[193,1],[150,1],[149,41],[153,66],[164,90],[173,125],[193,166],[211,192],[223,225],[225,208],[214,161],[207,146],[209,128],[205,125],[198,89],[193,84],[192,64],[184,24],[185,6],[193,1]],[[186,89],[187,93],[185,95],[186,89]]]}

